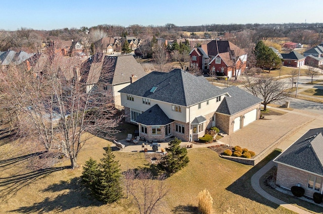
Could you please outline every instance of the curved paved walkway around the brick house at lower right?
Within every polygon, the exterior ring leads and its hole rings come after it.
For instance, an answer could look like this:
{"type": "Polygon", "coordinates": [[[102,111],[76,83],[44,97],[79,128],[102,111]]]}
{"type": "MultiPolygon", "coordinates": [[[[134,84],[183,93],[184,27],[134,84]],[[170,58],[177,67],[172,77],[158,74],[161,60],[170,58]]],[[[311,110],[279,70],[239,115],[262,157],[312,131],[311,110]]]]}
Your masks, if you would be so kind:
{"type": "Polygon", "coordinates": [[[268,170],[272,169],[275,166],[275,163],[273,161],[270,161],[268,164],[266,164],[264,167],[262,167],[258,172],[256,172],[252,177],[251,177],[251,186],[252,188],[259,193],[262,197],[276,203],[279,204],[287,209],[290,209],[294,212],[297,213],[301,213],[301,214],[310,214],[311,212],[306,211],[304,209],[301,209],[297,206],[294,206],[292,204],[288,204],[285,201],[282,201],[278,198],[275,198],[274,196],[268,194],[267,192],[265,192],[259,184],[259,180],[261,178],[261,176],[263,176],[266,172],[268,172],[268,170]]]}

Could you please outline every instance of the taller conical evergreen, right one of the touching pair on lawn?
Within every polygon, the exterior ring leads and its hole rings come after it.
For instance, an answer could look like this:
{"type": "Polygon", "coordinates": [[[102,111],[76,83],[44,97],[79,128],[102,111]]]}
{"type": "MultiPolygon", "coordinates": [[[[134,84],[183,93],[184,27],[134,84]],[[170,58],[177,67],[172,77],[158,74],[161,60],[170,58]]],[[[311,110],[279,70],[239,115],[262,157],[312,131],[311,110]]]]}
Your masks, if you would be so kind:
{"type": "Polygon", "coordinates": [[[107,147],[98,166],[100,173],[95,184],[94,196],[103,203],[119,200],[122,197],[120,165],[115,161],[110,146],[107,147]]]}

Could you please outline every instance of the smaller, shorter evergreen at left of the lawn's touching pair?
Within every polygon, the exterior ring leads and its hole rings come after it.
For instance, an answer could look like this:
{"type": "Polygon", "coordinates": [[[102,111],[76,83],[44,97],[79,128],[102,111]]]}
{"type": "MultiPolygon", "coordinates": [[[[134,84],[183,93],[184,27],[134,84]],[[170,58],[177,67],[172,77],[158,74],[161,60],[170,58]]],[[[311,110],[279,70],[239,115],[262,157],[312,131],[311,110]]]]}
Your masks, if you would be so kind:
{"type": "Polygon", "coordinates": [[[91,190],[94,189],[97,176],[99,173],[98,165],[92,157],[85,162],[85,166],[83,167],[83,172],[82,172],[82,183],[90,188],[91,190]]]}

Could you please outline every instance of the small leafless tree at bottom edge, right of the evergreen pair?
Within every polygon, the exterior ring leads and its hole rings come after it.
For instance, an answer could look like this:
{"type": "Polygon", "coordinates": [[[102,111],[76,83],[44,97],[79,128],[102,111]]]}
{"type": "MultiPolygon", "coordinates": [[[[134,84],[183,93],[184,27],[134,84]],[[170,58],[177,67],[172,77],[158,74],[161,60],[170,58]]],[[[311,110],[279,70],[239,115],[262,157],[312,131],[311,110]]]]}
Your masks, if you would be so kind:
{"type": "Polygon", "coordinates": [[[125,173],[127,196],[128,193],[133,196],[140,214],[153,213],[169,193],[165,178],[162,175],[154,180],[151,172],[145,170],[129,170],[125,173]]]}

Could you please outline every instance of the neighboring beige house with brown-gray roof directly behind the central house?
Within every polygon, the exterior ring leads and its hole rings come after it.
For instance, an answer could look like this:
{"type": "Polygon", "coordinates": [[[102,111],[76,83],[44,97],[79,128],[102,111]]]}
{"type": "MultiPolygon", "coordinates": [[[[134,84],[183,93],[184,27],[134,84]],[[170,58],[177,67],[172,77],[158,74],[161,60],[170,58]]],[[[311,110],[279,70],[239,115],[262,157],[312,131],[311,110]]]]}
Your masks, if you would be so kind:
{"type": "Polygon", "coordinates": [[[99,81],[103,83],[104,90],[111,90],[116,108],[121,108],[120,93],[122,88],[142,78],[146,72],[132,55],[105,56],[97,53],[83,64],[85,72],[84,82],[86,91],[92,90],[99,81]],[[108,76],[102,76],[102,71],[108,76]]]}

